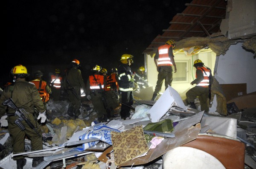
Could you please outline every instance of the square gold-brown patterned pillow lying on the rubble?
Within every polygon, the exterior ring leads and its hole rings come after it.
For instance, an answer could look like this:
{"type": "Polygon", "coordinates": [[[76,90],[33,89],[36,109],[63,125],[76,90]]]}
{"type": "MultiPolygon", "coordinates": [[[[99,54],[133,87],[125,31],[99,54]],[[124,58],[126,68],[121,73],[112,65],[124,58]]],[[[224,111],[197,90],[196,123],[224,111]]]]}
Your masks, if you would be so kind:
{"type": "Polygon", "coordinates": [[[116,166],[148,151],[142,125],[123,132],[111,132],[111,140],[116,166]]]}

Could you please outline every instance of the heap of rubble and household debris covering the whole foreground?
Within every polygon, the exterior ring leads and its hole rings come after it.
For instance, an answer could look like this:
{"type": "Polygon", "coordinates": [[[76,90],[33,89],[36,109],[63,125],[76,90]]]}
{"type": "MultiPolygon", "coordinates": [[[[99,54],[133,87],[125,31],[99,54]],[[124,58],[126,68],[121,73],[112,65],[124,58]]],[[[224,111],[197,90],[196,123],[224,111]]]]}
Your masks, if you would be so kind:
{"type": "MultiPolygon", "coordinates": [[[[31,151],[30,141],[25,139],[26,152],[16,154],[26,157],[24,169],[31,168],[32,158],[38,156],[43,156],[44,161],[36,169],[182,168],[184,162],[177,161],[179,155],[173,157],[179,147],[184,147],[189,161],[197,161],[204,168],[256,168],[253,107],[242,111],[233,108],[227,116],[205,113],[200,107],[195,110],[186,106],[169,86],[157,101],[135,99],[130,119],[117,116],[100,123],[90,101],[82,103],[81,115],[74,119],[67,115],[68,102],[49,101],[50,118],[42,124],[43,150],[31,151]],[[190,154],[191,149],[216,162],[199,159],[190,154]]],[[[15,168],[5,128],[0,130],[0,143],[0,167],[15,168]]],[[[195,163],[186,165],[198,167],[195,163]]]]}

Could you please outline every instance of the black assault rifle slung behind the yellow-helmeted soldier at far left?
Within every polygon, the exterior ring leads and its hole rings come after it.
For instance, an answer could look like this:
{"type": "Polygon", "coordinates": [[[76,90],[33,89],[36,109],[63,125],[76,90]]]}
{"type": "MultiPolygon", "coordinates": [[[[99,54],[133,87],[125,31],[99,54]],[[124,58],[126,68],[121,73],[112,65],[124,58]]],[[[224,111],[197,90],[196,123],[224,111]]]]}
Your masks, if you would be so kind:
{"type": "MultiPolygon", "coordinates": [[[[4,106],[8,106],[11,107],[12,109],[15,110],[14,115],[17,117],[17,119],[14,121],[14,123],[20,127],[20,130],[23,131],[25,130],[25,126],[21,123],[21,121],[25,121],[29,127],[33,130],[35,130],[35,126],[31,123],[31,121],[29,121],[29,119],[27,118],[27,113],[26,110],[24,110],[23,108],[18,108],[14,102],[12,101],[11,98],[7,99],[6,101],[3,102],[4,106]],[[25,115],[26,114],[26,115],[25,115]]],[[[8,114],[7,114],[8,115],[8,114]]],[[[38,131],[35,130],[35,132],[41,137],[41,135],[38,133],[38,131]]]]}

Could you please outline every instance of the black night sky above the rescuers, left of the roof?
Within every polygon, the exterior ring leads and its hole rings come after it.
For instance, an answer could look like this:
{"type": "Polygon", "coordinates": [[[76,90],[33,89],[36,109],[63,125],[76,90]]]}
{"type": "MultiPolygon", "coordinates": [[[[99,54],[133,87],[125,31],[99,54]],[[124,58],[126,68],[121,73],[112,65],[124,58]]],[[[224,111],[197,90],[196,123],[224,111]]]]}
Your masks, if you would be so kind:
{"type": "MultiPolygon", "coordinates": [[[[110,70],[122,54],[144,64],[145,48],[191,0],[9,0],[4,72],[22,65],[67,65],[79,59],[110,70]]],[[[2,80],[3,81],[3,80],[2,80]]],[[[5,83],[5,82],[4,82],[5,83]]]]}

